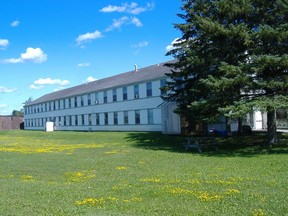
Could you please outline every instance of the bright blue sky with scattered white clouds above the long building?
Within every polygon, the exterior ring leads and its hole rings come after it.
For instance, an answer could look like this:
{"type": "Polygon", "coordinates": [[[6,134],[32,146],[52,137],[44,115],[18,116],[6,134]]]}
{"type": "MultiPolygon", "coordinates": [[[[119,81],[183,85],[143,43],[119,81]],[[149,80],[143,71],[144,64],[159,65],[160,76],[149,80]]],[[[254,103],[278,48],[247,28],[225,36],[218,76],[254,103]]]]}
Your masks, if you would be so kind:
{"type": "Polygon", "coordinates": [[[181,0],[1,0],[0,115],[29,97],[171,60],[181,0]]]}

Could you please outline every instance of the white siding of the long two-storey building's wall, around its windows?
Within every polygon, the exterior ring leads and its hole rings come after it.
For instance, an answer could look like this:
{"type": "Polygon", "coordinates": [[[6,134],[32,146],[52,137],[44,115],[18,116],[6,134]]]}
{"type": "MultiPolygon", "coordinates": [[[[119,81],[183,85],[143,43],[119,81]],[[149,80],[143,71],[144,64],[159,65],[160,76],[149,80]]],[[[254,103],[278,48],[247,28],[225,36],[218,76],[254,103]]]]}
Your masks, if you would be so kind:
{"type": "Polygon", "coordinates": [[[125,101],[123,101],[123,86],[121,86],[114,88],[117,93],[117,101],[114,102],[113,89],[108,89],[105,90],[107,103],[103,101],[104,91],[99,91],[25,107],[26,129],[43,130],[47,120],[55,119],[55,130],[161,131],[161,108],[158,106],[163,101],[160,97],[160,80],[151,81],[152,96],[150,97],[147,97],[146,83],[135,84],[139,86],[139,98],[136,99],[134,98],[134,84],[130,84],[126,86],[127,100],[125,101]],[[91,98],[91,105],[88,105],[88,94],[91,98]],[[77,107],[75,107],[75,100],[77,100],[77,107]],[[95,103],[96,100],[98,103],[95,103]],[[153,123],[151,124],[148,124],[148,110],[153,110],[153,123]],[[124,124],[125,111],[128,112],[128,124],[126,125],[124,124]],[[135,123],[136,111],[140,112],[140,124],[135,123]],[[117,112],[118,124],[114,124],[115,112],[117,112]],[[108,124],[106,125],[105,113],[108,114],[108,124]],[[99,115],[99,125],[96,125],[96,114],[99,115]],[[89,115],[91,116],[91,125],[89,125],[89,115]],[[82,116],[84,116],[84,124],[82,124],[82,116]]]}

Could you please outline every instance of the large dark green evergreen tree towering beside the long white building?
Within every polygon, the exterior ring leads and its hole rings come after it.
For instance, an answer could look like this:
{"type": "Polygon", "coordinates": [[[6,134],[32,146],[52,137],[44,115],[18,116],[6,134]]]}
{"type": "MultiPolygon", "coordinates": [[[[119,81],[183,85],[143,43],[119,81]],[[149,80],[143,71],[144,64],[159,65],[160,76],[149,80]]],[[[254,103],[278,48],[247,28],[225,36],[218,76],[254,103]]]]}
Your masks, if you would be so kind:
{"type": "Polygon", "coordinates": [[[165,99],[191,122],[266,111],[274,141],[274,111],[288,105],[288,1],[183,0],[182,10],[165,99]]]}

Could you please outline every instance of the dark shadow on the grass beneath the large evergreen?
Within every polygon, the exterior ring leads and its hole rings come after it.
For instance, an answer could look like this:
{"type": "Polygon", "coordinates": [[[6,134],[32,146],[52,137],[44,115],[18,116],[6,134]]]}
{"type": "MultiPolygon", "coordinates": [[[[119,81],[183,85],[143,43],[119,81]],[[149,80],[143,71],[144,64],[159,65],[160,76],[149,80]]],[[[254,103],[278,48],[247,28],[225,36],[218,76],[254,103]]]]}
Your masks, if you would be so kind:
{"type": "Polygon", "coordinates": [[[165,150],[183,154],[197,154],[206,157],[255,157],[263,154],[287,154],[288,135],[280,135],[280,142],[273,146],[265,146],[265,134],[250,134],[227,138],[215,137],[218,150],[213,147],[203,148],[200,154],[197,149],[185,151],[185,136],[164,135],[156,132],[129,133],[126,139],[135,148],[149,150],[165,150]]]}

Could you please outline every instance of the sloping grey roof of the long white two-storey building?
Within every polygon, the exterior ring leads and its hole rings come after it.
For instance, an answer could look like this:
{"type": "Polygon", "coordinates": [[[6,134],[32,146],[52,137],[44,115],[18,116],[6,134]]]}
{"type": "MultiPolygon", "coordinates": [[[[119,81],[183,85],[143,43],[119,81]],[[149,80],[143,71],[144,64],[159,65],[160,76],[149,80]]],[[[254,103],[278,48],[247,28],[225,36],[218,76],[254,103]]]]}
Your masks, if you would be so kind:
{"type": "Polygon", "coordinates": [[[26,104],[26,106],[53,100],[59,100],[62,98],[67,98],[76,95],[82,95],[90,92],[97,92],[111,88],[117,88],[120,86],[145,82],[149,80],[159,79],[162,77],[164,78],[166,76],[165,74],[170,73],[171,71],[169,67],[165,66],[166,63],[168,62],[151,65],[145,68],[140,68],[126,73],[121,73],[112,77],[107,77],[104,79],[96,80],[93,82],[85,83],[71,88],[52,92],[43,95],[42,97],[37,98],[36,100],[31,101],[29,104],[26,104]]]}

